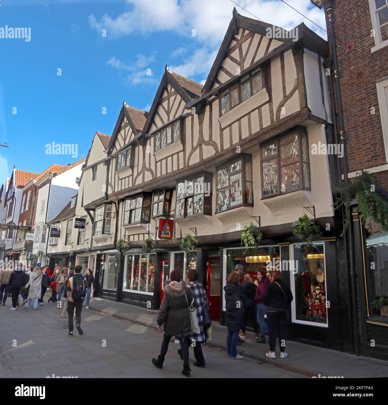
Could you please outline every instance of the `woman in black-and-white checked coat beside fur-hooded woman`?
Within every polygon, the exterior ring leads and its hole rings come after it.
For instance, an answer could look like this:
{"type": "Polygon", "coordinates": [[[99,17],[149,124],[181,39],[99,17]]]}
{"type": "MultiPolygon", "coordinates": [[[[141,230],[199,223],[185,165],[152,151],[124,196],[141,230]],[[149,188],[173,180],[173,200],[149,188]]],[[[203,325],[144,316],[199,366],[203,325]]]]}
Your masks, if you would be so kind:
{"type": "MultiPolygon", "coordinates": [[[[208,296],[206,294],[206,290],[201,286],[201,284],[197,283],[198,279],[198,272],[195,269],[189,269],[186,272],[186,281],[187,287],[190,288],[191,293],[194,296],[194,306],[195,313],[198,319],[198,326],[200,333],[191,333],[187,338],[186,342],[188,347],[193,346],[194,348],[194,356],[195,356],[195,363],[194,365],[197,367],[205,367],[205,359],[204,354],[202,353],[202,342],[206,341],[205,332],[204,332],[204,323],[203,318],[205,314],[205,310],[209,311],[208,305],[208,296]]],[[[178,350],[178,354],[182,358],[182,350],[178,350]]]]}

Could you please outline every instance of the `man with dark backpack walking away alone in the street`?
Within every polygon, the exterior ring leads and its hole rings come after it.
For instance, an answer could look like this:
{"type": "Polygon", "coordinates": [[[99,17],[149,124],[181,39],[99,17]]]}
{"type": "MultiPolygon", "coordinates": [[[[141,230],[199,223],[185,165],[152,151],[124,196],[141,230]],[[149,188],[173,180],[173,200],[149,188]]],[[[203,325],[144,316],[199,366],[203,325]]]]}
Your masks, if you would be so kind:
{"type": "Polygon", "coordinates": [[[77,265],[74,267],[74,275],[69,277],[67,281],[67,315],[69,316],[69,332],[67,336],[73,336],[73,313],[75,309],[75,324],[79,335],[84,332],[81,329],[81,311],[82,303],[84,301],[86,290],[88,288],[88,281],[81,274],[82,266],[77,265]]]}

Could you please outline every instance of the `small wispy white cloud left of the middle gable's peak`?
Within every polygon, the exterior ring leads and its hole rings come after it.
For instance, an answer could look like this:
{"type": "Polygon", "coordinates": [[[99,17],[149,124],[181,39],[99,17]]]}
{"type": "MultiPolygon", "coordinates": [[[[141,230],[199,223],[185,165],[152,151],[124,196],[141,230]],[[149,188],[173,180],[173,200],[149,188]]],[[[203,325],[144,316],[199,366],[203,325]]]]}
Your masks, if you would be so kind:
{"type": "Polygon", "coordinates": [[[116,68],[126,76],[126,80],[131,84],[148,83],[153,84],[156,79],[153,77],[151,64],[155,60],[156,52],[150,55],[139,53],[134,62],[125,63],[113,56],[107,62],[108,65],[116,68]]]}

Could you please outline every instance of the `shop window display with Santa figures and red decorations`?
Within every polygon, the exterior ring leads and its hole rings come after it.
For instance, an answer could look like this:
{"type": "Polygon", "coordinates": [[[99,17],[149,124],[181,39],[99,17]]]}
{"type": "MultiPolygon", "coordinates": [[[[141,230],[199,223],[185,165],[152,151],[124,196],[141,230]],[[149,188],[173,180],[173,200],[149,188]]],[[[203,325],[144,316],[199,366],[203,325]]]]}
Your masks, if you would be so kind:
{"type": "Polygon", "coordinates": [[[294,245],[296,320],[327,324],[324,244],[294,245]]]}

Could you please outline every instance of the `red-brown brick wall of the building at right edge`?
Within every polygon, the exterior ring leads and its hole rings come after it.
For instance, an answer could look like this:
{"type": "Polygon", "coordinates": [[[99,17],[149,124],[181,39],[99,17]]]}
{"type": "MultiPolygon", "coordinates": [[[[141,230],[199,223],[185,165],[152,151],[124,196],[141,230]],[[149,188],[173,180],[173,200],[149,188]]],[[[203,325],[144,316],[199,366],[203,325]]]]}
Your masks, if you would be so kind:
{"type": "MultiPolygon", "coordinates": [[[[367,0],[337,0],[334,13],[337,17],[334,30],[338,63],[343,74],[340,79],[343,115],[345,130],[349,133],[349,172],[382,166],[387,161],[376,81],[388,76],[388,46],[371,53],[375,41],[371,36],[372,22],[367,0]],[[347,52],[340,39],[345,43],[353,41],[355,49],[347,52]],[[357,77],[359,71],[364,73],[361,78],[357,77]],[[371,114],[371,107],[375,108],[375,114],[371,114]]],[[[329,47],[331,53],[330,43],[329,47]]],[[[387,111],[382,113],[387,114],[387,111]]],[[[388,190],[388,171],[377,173],[376,177],[379,186],[388,190]]]]}

